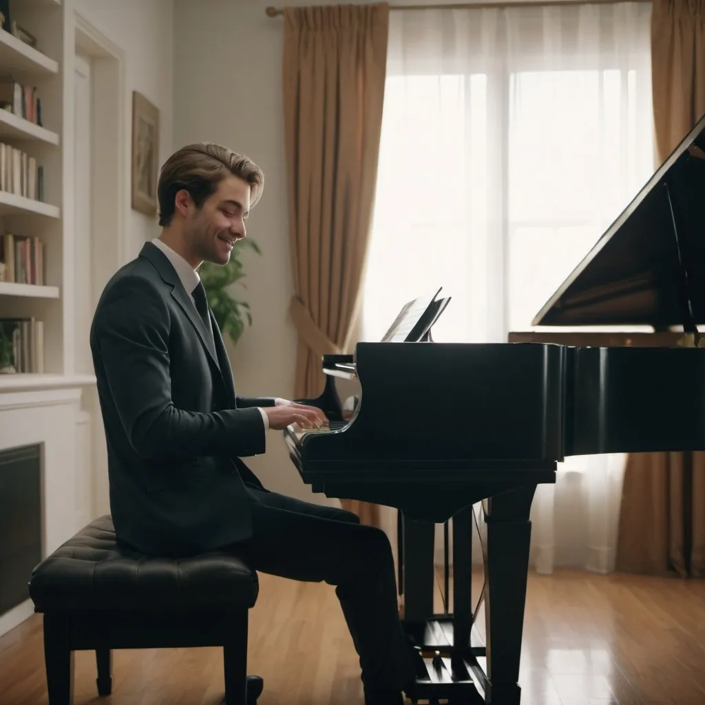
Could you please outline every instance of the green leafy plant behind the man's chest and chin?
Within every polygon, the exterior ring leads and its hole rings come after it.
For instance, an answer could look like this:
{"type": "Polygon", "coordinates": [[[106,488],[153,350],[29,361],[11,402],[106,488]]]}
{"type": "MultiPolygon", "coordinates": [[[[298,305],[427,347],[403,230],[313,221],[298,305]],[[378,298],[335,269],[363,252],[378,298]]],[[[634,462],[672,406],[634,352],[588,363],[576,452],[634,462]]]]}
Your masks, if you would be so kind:
{"type": "Polygon", "coordinates": [[[223,336],[230,336],[233,343],[238,342],[245,330],[245,325],[252,325],[250,304],[231,293],[231,286],[235,283],[242,286],[243,289],[247,288],[241,281],[245,273],[240,257],[242,257],[245,247],[255,250],[258,255],[262,254],[255,240],[243,238],[233,246],[228,264],[219,265],[204,262],[198,269],[198,274],[200,274],[206,290],[208,304],[213,311],[218,327],[223,336]]]}

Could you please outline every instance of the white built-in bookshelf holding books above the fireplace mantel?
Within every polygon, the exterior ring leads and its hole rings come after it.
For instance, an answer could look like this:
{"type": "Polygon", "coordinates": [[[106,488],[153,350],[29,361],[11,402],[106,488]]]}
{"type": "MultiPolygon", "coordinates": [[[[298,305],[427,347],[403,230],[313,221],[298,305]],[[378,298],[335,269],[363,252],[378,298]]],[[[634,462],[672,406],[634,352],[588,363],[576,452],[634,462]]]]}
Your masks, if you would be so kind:
{"type": "MultiPolygon", "coordinates": [[[[57,0],[10,0],[11,19],[37,38],[36,47],[0,30],[0,77],[34,87],[42,103],[42,125],[0,109],[0,142],[20,149],[44,171],[42,200],[17,195],[11,188],[0,190],[0,240],[6,234],[15,235],[16,252],[18,238],[38,241],[43,264],[41,279],[23,280],[17,274],[16,281],[0,281],[0,319],[34,319],[42,321],[43,329],[38,346],[43,349],[43,369],[30,367],[42,369],[42,374],[0,374],[0,393],[76,384],[75,380],[69,382],[73,375],[66,355],[73,330],[73,299],[66,301],[65,289],[66,281],[73,277],[73,267],[72,235],[63,214],[67,198],[73,199],[71,188],[67,190],[65,184],[67,160],[70,165],[73,155],[63,149],[67,141],[71,143],[66,133],[72,127],[66,121],[66,115],[71,115],[67,103],[73,78],[66,73],[67,68],[73,71],[71,62],[66,61],[73,55],[73,35],[67,25],[69,9],[57,0]],[[42,286],[25,281],[41,281],[42,286]]],[[[32,271],[32,262],[23,260],[20,254],[17,257],[24,269],[32,271]]],[[[17,273],[18,259],[13,264],[17,273]]],[[[11,276],[7,268],[5,276],[11,276]]]]}

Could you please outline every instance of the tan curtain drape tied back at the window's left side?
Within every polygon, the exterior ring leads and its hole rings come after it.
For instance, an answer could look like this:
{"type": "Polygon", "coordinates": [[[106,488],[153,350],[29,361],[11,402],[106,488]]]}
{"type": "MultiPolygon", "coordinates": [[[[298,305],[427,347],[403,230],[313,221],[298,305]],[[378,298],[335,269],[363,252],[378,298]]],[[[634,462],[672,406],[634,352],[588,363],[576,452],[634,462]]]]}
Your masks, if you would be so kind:
{"type": "MultiPolygon", "coordinates": [[[[321,355],[346,351],[376,188],[388,5],[284,11],[283,95],[298,331],[296,398],[323,390],[321,355]]],[[[366,523],[374,507],[346,503],[366,523]]]]}

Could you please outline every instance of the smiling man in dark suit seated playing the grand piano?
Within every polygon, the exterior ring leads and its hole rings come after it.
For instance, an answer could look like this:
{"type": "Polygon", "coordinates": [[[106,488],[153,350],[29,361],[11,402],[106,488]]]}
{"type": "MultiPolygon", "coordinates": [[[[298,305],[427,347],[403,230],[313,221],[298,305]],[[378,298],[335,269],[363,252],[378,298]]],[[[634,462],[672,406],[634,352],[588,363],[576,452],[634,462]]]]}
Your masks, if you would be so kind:
{"type": "Polygon", "coordinates": [[[335,585],[366,704],[397,705],[414,674],[386,534],[267,491],[241,460],[264,453],[272,430],[327,424],[315,407],[236,395],[198,276],[204,261],[228,262],[263,182],[250,159],[218,145],[178,150],[159,176],[161,235],[99,300],[90,344],[116,534],[149,554],[227,548],[253,570],[335,585]]]}

